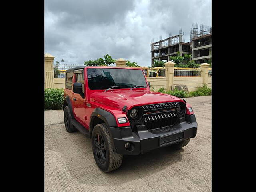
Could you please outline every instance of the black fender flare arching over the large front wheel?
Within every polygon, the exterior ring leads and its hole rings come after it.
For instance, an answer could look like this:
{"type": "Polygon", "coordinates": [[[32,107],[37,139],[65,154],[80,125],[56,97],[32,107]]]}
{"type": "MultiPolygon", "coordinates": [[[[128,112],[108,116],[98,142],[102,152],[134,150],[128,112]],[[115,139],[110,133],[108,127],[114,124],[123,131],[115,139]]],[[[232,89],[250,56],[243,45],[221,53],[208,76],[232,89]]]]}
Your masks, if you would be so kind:
{"type": "Polygon", "coordinates": [[[104,109],[101,109],[101,108],[95,108],[90,116],[90,138],[92,136],[92,130],[93,130],[92,125],[93,125],[94,117],[100,118],[101,120],[103,120],[106,123],[110,134],[111,134],[111,131],[110,131],[109,127],[110,126],[117,127],[116,119],[112,115],[112,113],[110,113],[104,109]]]}

